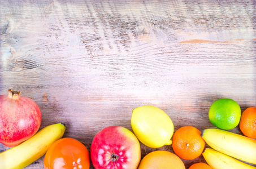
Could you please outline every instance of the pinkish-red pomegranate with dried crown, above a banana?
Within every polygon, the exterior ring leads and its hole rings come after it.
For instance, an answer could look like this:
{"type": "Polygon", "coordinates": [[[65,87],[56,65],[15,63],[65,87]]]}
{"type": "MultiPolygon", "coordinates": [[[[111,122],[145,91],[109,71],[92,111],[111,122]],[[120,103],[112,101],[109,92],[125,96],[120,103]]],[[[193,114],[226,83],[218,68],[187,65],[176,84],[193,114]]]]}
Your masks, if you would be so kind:
{"type": "Polygon", "coordinates": [[[41,110],[32,99],[13,90],[0,95],[0,143],[19,145],[36,134],[40,124],[41,110]]]}

